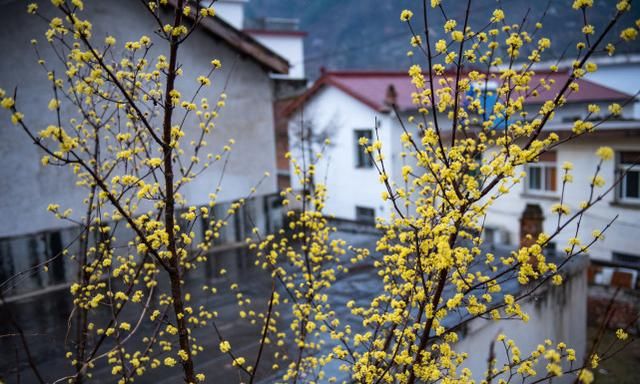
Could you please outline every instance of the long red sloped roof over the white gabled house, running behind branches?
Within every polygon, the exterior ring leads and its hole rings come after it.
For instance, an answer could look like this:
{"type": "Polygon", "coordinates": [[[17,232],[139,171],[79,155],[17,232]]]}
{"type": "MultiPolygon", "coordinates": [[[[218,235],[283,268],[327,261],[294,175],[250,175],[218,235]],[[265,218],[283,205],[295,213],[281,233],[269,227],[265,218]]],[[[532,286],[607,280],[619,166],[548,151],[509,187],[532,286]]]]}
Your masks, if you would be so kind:
{"type": "MultiPolygon", "coordinates": [[[[453,78],[454,74],[446,74],[444,77],[453,78]]],[[[438,77],[439,79],[440,77],[438,77]]],[[[552,73],[552,72],[538,72],[532,80],[531,85],[536,86],[540,84],[540,81],[544,79],[547,84],[550,85],[549,90],[539,88],[539,94],[537,96],[528,96],[526,99],[527,104],[541,104],[542,102],[553,98],[565,84],[569,78],[568,73],[552,73]],[[551,84],[550,80],[554,80],[551,84]]],[[[427,79],[428,80],[428,79],[427,79]]],[[[577,93],[571,93],[567,97],[567,102],[593,102],[593,101],[620,101],[627,100],[631,95],[624,92],[616,91],[615,89],[605,87],[600,84],[596,84],[586,79],[577,80],[580,91],[577,93]]],[[[411,100],[411,93],[416,91],[416,88],[411,84],[409,75],[406,72],[388,72],[388,71],[326,71],[323,75],[313,84],[307,92],[305,92],[296,102],[292,103],[287,114],[293,113],[298,107],[300,107],[306,100],[312,97],[322,87],[331,85],[334,86],[355,99],[361,101],[367,106],[377,111],[383,111],[388,108],[385,104],[385,97],[389,86],[393,86],[397,94],[396,105],[400,110],[412,110],[415,109],[415,105],[411,100]]],[[[434,84],[435,89],[440,88],[440,85],[436,82],[434,84]]]]}

